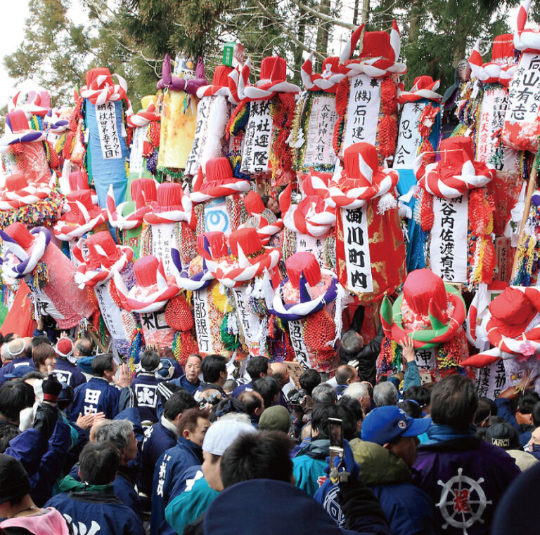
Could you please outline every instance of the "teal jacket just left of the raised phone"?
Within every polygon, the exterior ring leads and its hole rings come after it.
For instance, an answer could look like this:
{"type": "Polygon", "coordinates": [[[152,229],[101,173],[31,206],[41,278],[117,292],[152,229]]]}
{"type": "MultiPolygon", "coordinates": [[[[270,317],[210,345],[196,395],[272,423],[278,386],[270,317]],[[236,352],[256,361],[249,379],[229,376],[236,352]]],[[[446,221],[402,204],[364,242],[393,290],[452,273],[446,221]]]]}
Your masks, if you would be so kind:
{"type": "Polygon", "coordinates": [[[326,457],[330,455],[330,440],[312,440],[293,458],[293,475],[296,486],[313,496],[326,480],[326,457]]]}

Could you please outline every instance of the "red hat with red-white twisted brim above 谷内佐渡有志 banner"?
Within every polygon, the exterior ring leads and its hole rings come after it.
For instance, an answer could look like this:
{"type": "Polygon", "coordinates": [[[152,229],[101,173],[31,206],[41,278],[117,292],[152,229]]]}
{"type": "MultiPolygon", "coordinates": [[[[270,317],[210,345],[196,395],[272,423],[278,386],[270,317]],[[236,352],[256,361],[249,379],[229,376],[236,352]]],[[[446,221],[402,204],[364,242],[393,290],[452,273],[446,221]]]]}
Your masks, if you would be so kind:
{"type": "Polygon", "coordinates": [[[423,176],[421,157],[415,161],[418,185],[437,197],[453,199],[468,190],[482,187],[495,176],[495,169],[480,161],[474,161],[473,140],[471,138],[446,138],[439,145],[440,161],[425,166],[423,176]]]}

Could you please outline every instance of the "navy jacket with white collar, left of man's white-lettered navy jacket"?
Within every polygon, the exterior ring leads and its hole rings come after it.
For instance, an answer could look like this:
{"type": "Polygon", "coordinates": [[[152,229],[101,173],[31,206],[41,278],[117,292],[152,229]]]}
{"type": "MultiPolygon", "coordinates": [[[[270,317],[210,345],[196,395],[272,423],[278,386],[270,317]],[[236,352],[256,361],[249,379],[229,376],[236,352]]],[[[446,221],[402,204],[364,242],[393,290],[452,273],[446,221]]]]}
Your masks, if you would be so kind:
{"type": "MultiPolygon", "coordinates": [[[[143,445],[141,447],[142,469],[137,485],[139,491],[146,496],[152,494],[152,480],[155,465],[158,464],[163,452],[172,448],[178,439],[176,433],[163,425],[165,416],[144,432],[143,445]]],[[[170,423],[170,422],[169,422],[170,423]]]]}

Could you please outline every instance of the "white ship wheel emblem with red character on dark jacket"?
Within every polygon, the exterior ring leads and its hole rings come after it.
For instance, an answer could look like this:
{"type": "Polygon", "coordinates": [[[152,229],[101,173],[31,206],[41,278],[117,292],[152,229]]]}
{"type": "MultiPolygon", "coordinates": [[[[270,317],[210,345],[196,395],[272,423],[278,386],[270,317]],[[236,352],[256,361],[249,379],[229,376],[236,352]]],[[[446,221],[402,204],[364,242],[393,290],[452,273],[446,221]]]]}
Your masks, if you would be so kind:
{"type": "Polygon", "coordinates": [[[458,475],[451,477],[446,483],[441,480],[437,484],[441,485],[441,499],[437,507],[441,511],[447,527],[463,529],[463,535],[467,534],[467,529],[475,522],[484,523],[482,514],[491,500],[486,500],[484,490],[480,486],[484,478],[473,480],[463,475],[463,468],[458,468],[458,475]]]}

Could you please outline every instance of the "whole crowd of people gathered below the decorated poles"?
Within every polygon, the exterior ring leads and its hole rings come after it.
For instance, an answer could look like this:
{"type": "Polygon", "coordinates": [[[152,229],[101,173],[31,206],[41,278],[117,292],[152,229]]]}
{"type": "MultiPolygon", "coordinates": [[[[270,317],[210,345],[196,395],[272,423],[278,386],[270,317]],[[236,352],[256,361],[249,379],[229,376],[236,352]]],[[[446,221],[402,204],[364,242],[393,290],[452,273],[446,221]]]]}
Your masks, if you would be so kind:
{"type": "Polygon", "coordinates": [[[265,357],[239,377],[147,348],[132,374],[89,338],[7,334],[0,534],[534,532],[534,377],[497,399],[465,375],[422,384],[404,342],[404,372],[375,384],[357,336],[332,377],[294,383],[265,357]]]}

